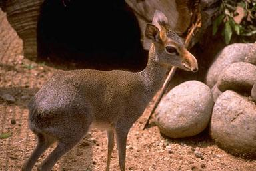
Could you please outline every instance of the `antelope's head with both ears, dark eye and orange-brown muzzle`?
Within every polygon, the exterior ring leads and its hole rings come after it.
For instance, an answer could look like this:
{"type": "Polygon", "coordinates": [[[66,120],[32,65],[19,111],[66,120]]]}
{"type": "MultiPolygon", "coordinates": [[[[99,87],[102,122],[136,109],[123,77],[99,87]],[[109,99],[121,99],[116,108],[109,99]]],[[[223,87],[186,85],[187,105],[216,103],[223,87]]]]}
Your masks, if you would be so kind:
{"type": "Polygon", "coordinates": [[[156,10],[152,24],[146,25],[145,36],[155,45],[157,63],[186,71],[198,70],[197,59],[187,51],[181,37],[171,30],[167,17],[161,11],[156,10]]]}

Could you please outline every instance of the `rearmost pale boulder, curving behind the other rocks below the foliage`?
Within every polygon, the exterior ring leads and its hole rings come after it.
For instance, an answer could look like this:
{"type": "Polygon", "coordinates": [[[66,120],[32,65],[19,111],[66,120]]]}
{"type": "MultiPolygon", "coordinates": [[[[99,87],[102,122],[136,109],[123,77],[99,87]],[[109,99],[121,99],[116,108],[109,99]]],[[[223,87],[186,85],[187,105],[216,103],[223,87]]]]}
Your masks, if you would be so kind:
{"type": "MultiPolygon", "coordinates": [[[[256,49],[253,43],[234,43],[225,47],[218,55],[215,57],[215,61],[209,68],[206,76],[206,84],[211,88],[217,82],[219,75],[222,73],[223,69],[235,62],[244,62],[248,53],[256,49]]],[[[253,54],[250,53],[250,54],[253,54]]],[[[251,60],[251,57],[247,61],[251,60]]]]}

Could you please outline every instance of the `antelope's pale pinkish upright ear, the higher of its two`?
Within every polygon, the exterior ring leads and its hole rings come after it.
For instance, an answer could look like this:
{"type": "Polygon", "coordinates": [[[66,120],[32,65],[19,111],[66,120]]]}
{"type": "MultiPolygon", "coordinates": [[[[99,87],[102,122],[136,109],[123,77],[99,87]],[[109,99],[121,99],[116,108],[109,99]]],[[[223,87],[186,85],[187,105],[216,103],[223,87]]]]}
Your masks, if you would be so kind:
{"type": "Polygon", "coordinates": [[[168,24],[168,19],[162,11],[155,10],[152,24],[155,25],[159,31],[161,31],[161,29],[168,24]]]}

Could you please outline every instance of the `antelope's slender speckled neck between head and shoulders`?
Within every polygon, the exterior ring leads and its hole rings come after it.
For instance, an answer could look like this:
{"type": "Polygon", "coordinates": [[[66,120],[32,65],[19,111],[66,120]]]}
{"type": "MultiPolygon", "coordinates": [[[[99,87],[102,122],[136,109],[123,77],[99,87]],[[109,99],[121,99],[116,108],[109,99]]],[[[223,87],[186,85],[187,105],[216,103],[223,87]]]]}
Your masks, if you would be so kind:
{"type": "Polygon", "coordinates": [[[159,65],[155,61],[157,58],[157,53],[155,52],[155,45],[152,43],[149,50],[149,60],[147,62],[147,67],[141,71],[143,81],[147,86],[147,90],[155,95],[157,90],[161,88],[165,81],[165,74],[167,72],[167,67],[159,65]]]}

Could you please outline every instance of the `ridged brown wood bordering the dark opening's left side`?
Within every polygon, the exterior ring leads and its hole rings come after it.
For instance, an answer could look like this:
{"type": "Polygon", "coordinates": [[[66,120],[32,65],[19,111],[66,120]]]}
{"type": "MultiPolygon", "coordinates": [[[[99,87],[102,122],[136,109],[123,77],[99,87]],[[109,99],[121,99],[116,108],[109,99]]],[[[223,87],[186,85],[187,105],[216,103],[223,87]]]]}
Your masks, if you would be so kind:
{"type": "Polygon", "coordinates": [[[8,0],[5,12],[13,29],[23,40],[24,56],[28,59],[37,57],[37,18],[43,0],[8,0]]]}

